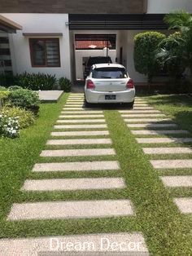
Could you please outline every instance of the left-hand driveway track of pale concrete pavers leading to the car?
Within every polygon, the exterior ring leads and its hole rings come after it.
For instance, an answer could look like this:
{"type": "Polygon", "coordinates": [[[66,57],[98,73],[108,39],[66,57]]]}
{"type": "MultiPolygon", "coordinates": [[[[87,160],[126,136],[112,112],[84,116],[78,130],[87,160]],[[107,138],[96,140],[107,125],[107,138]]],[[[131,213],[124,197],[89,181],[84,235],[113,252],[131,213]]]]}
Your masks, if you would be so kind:
{"type": "MultiPolygon", "coordinates": [[[[102,172],[103,170],[118,171],[118,161],[76,161],[75,157],[107,157],[116,156],[112,141],[107,130],[103,111],[82,108],[83,95],[71,94],[64,106],[58,121],[51,132],[52,138],[46,143],[46,150],[41,152],[43,163],[33,166],[33,172],[46,174],[47,172],[102,172]],[[89,136],[95,139],[89,139],[89,136]],[[105,137],[103,137],[103,135],[105,137]],[[78,139],[81,136],[81,139],[78,139]],[[89,148],[87,148],[89,145],[89,148]],[[93,145],[93,146],[92,146],[93,145]],[[94,146],[97,145],[97,148],[94,146]],[[79,148],[81,146],[81,148],[79,148]],[[60,147],[59,149],[57,147],[60,147]],[[67,148],[66,148],[67,147],[67,148]],[[71,147],[71,148],[68,148],[71,147]],[[58,161],[47,162],[47,157],[58,157],[58,161]],[[71,157],[72,161],[65,161],[71,157]]],[[[146,107],[143,107],[146,108],[146,107]]],[[[55,159],[55,158],[54,158],[55,159]]],[[[86,158],[87,159],[87,158],[86,158]]],[[[110,175],[110,174],[109,174],[110,175]]],[[[53,192],[76,190],[107,190],[123,189],[126,184],[122,177],[111,178],[83,178],[83,179],[28,179],[24,182],[23,192],[53,192]]],[[[126,200],[98,200],[98,201],[37,201],[15,203],[7,216],[7,221],[30,221],[44,219],[72,219],[72,218],[110,218],[120,216],[134,216],[135,211],[132,201],[126,200]]],[[[0,241],[0,252],[6,251],[9,255],[40,255],[52,253],[50,249],[51,237],[37,237],[33,239],[13,239],[0,241]]],[[[93,255],[148,255],[148,249],[141,233],[116,233],[116,234],[87,234],[80,236],[55,236],[63,244],[77,242],[92,243],[92,248],[85,247],[81,255],[89,249],[93,255]],[[105,243],[103,243],[105,240],[105,243]],[[116,249],[106,249],[106,241],[116,242],[116,249]],[[122,248],[122,243],[124,247],[122,248]],[[103,254],[97,254],[97,252],[103,254]],[[120,254],[120,252],[122,254],[120,254]]],[[[59,248],[59,251],[62,250],[59,248]]],[[[64,248],[64,255],[70,250],[64,248]]],[[[81,250],[81,249],[80,249],[81,250]]],[[[57,250],[57,253],[59,252],[57,250]]],[[[78,251],[78,249],[76,249],[78,251]]],[[[50,254],[49,254],[50,255],[50,254]]],[[[78,254],[79,255],[79,254],[78,254]]],[[[89,255],[86,254],[86,255],[89,255]]]]}

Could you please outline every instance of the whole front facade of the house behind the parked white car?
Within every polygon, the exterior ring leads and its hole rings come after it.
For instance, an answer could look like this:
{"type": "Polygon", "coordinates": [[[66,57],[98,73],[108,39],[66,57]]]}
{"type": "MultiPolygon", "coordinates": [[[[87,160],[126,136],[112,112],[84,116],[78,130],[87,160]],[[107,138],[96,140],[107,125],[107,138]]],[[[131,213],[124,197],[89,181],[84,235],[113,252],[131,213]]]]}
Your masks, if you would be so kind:
{"type": "Polygon", "coordinates": [[[146,82],[134,68],[133,38],[146,30],[167,33],[164,15],[179,9],[192,12],[191,0],[2,1],[0,71],[50,73],[75,81],[90,55],[110,55],[135,82],[146,82]],[[78,48],[78,40],[90,42],[89,47],[78,48]],[[106,41],[109,49],[96,41],[106,41]]]}

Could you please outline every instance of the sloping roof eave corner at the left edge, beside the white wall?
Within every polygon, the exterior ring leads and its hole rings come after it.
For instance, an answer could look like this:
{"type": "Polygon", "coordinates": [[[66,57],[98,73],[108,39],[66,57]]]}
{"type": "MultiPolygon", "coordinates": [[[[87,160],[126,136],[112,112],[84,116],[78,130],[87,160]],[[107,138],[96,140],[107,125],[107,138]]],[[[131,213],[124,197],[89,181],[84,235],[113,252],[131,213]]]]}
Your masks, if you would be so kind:
{"type": "Polygon", "coordinates": [[[0,33],[16,33],[16,30],[22,30],[20,24],[0,15],[0,33]]]}

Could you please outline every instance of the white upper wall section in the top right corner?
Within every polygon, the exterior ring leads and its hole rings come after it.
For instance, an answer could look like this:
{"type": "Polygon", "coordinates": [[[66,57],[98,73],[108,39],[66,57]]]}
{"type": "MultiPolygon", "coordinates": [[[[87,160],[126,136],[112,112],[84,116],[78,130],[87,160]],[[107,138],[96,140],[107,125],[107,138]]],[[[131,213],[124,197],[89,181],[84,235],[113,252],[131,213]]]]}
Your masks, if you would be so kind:
{"type": "Polygon", "coordinates": [[[192,12],[191,0],[148,0],[147,13],[168,13],[185,10],[192,12]]]}

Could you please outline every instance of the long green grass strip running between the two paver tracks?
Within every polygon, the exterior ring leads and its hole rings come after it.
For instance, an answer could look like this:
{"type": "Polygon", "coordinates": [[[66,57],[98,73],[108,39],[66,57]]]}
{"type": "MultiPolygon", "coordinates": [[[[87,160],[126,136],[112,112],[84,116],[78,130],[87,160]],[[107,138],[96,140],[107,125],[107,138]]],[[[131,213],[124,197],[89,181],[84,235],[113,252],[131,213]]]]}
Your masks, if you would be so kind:
{"type": "MultiPolygon", "coordinates": [[[[190,226],[159,180],[120,113],[106,112],[111,139],[137,214],[137,227],[154,255],[190,254],[190,226]]],[[[188,218],[187,218],[188,219],[188,218]]]]}

